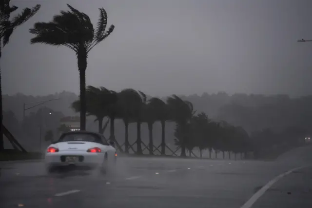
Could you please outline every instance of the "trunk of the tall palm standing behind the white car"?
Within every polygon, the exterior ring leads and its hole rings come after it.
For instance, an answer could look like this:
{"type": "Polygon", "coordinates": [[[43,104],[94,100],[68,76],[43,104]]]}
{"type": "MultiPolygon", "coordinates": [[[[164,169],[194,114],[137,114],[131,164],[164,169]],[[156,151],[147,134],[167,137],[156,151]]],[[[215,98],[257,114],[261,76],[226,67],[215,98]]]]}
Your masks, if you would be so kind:
{"type": "Polygon", "coordinates": [[[80,80],[80,130],[86,130],[86,69],[87,69],[87,52],[81,44],[77,53],[78,70],[80,80]]]}

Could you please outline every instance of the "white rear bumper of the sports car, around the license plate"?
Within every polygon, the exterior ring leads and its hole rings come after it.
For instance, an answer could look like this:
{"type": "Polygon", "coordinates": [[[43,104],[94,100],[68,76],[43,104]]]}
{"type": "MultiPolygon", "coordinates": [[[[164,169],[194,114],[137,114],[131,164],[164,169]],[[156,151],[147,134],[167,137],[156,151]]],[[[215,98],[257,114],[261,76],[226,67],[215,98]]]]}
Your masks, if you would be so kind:
{"type": "Polygon", "coordinates": [[[89,166],[97,167],[103,163],[103,153],[91,153],[85,151],[59,151],[54,153],[46,153],[44,162],[48,166],[89,166]],[[66,162],[67,156],[76,156],[77,161],[74,163],[66,162]]]}

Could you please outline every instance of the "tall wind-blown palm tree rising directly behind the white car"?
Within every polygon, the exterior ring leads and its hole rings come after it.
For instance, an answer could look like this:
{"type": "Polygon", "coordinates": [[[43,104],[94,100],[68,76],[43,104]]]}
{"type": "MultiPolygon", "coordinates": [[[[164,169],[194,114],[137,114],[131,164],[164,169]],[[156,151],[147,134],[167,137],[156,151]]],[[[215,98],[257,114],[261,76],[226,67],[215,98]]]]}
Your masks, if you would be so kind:
{"type": "Polygon", "coordinates": [[[78,59],[80,80],[80,129],[86,129],[86,69],[90,50],[99,42],[106,39],[114,30],[111,25],[107,31],[107,13],[99,8],[100,16],[97,28],[88,15],[79,12],[67,4],[70,11],[61,11],[60,15],[53,17],[50,22],[36,22],[30,33],[36,35],[31,43],[44,43],[56,46],[66,46],[75,51],[78,59]]]}

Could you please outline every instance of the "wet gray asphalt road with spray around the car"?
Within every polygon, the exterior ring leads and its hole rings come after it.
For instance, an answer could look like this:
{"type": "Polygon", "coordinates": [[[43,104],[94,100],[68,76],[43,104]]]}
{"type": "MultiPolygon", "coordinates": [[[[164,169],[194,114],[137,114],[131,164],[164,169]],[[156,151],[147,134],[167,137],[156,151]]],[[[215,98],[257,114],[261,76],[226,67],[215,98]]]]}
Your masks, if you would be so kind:
{"type": "Polygon", "coordinates": [[[311,208],[312,168],[287,172],[310,164],[312,147],[275,162],[119,158],[105,177],[0,163],[0,208],[311,208]]]}

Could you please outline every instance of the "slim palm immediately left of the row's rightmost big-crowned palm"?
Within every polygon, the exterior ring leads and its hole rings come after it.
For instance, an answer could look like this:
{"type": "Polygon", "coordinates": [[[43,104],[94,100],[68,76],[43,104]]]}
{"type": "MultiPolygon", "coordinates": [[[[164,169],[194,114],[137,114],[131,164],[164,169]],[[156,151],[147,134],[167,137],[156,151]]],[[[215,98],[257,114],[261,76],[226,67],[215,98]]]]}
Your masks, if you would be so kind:
{"type": "Polygon", "coordinates": [[[169,106],[159,98],[151,98],[149,100],[149,106],[154,109],[156,120],[161,124],[161,154],[165,154],[165,125],[166,121],[170,119],[169,106]]]}

